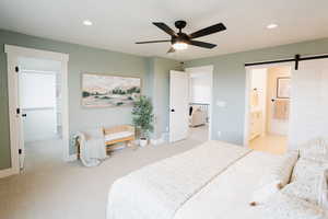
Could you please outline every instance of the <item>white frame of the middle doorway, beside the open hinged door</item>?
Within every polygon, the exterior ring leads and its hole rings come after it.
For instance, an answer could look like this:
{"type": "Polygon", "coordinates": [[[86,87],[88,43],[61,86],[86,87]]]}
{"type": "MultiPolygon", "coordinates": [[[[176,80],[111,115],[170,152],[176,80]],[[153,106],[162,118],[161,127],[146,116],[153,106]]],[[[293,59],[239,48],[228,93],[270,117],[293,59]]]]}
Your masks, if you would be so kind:
{"type": "MultiPolygon", "coordinates": [[[[211,85],[210,85],[210,107],[209,107],[209,115],[210,115],[210,119],[209,119],[209,140],[213,140],[213,132],[212,132],[212,125],[213,125],[213,108],[214,108],[214,95],[213,95],[213,88],[214,88],[214,66],[213,65],[208,65],[208,66],[196,66],[196,67],[189,67],[189,68],[185,68],[185,71],[187,73],[190,74],[190,72],[192,71],[204,71],[204,72],[209,72],[210,78],[211,78],[211,85]]],[[[190,78],[190,76],[189,76],[190,78]]],[[[189,95],[190,95],[190,90],[189,90],[189,95]]]]}

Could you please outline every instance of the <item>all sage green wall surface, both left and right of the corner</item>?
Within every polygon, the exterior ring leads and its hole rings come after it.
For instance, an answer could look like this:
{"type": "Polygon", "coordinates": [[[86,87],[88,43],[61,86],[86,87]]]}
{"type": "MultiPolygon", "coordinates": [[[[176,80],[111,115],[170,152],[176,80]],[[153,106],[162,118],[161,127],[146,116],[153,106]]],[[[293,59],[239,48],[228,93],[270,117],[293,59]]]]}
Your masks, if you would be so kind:
{"type": "MultiPolygon", "coordinates": [[[[143,78],[143,93],[150,95],[156,115],[155,137],[166,131],[169,115],[169,70],[180,70],[178,61],[164,58],[144,58],[122,53],[50,41],[0,30],[0,170],[10,168],[9,114],[7,92],[7,58],[4,44],[52,50],[70,55],[69,60],[69,116],[70,132],[101,125],[130,123],[130,107],[81,107],[81,72],[120,73],[143,78]],[[119,111],[119,113],[117,113],[119,111]]],[[[283,45],[251,51],[222,55],[185,62],[185,67],[214,66],[213,97],[225,101],[226,107],[214,105],[212,112],[213,138],[243,143],[245,112],[245,62],[290,58],[295,54],[328,53],[328,38],[283,45]]],[[[73,153],[73,148],[70,150],[73,153]]]]}

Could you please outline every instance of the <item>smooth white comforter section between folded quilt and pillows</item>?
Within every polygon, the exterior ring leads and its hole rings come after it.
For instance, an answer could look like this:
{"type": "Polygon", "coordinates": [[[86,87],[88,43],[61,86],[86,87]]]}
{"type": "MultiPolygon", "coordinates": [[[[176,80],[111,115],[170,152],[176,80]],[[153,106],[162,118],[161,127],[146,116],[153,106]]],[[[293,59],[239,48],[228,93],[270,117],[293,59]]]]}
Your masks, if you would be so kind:
{"type": "Polygon", "coordinates": [[[192,196],[174,219],[266,219],[249,203],[260,178],[277,162],[278,155],[251,151],[192,196]]]}

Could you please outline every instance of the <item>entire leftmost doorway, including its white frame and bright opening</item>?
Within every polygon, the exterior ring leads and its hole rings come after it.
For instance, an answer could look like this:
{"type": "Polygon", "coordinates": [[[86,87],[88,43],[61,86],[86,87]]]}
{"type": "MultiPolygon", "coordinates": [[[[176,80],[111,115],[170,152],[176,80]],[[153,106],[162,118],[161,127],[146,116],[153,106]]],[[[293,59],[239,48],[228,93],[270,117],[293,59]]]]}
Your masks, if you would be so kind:
{"type": "Polygon", "coordinates": [[[69,160],[69,55],[12,45],[4,50],[11,174],[69,160]]]}

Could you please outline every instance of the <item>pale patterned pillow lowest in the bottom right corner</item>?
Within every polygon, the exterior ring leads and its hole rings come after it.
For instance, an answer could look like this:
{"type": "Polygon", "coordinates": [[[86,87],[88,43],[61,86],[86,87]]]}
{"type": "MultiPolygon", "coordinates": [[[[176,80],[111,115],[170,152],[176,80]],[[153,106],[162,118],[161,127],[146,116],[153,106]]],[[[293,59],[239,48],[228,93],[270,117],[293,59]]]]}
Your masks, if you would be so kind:
{"type": "Polygon", "coordinates": [[[295,196],[277,193],[258,207],[265,219],[327,219],[327,211],[295,196]]]}

